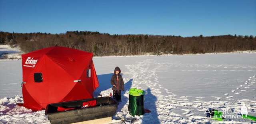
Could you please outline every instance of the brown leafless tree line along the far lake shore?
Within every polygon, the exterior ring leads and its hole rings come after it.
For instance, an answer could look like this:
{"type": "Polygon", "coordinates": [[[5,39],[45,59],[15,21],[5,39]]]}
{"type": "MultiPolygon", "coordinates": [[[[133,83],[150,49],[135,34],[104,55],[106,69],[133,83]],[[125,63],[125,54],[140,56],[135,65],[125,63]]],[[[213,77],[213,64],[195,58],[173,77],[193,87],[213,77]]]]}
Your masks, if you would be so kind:
{"type": "Polygon", "coordinates": [[[66,33],[8,33],[0,32],[0,44],[19,45],[25,53],[58,46],[94,53],[95,56],[219,53],[256,50],[252,35],[203,35],[181,37],[174,35],[110,35],[97,31],[67,31],[66,33]]]}

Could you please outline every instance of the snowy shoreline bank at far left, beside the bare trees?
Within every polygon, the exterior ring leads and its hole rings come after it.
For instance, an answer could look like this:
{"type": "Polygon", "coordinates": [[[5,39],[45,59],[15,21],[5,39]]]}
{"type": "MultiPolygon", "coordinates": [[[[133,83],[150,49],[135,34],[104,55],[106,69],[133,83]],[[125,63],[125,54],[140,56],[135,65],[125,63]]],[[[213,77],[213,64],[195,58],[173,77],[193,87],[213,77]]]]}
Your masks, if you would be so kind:
{"type": "Polygon", "coordinates": [[[21,59],[20,48],[0,45],[0,59],[21,59]]]}

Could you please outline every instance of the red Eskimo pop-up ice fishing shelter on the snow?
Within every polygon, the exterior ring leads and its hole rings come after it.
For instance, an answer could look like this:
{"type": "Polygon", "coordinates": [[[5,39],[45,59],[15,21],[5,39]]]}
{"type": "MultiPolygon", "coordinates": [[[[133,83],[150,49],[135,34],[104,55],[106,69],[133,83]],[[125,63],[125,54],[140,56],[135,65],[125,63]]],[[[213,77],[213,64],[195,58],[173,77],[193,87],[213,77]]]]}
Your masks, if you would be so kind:
{"type": "Polygon", "coordinates": [[[99,87],[93,53],[48,47],[22,55],[22,106],[33,111],[47,104],[93,98],[99,87]]]}

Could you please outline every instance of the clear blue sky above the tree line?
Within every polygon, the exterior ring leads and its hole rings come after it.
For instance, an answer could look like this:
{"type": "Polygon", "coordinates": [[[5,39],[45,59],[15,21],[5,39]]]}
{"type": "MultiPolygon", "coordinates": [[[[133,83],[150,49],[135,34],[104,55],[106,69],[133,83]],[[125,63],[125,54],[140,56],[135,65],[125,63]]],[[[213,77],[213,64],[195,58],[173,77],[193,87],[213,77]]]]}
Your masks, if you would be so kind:
{"type": "Polygon", "coordinates": [[[0,31],[256,36],[256,0],[0,0],[0,31]]]}

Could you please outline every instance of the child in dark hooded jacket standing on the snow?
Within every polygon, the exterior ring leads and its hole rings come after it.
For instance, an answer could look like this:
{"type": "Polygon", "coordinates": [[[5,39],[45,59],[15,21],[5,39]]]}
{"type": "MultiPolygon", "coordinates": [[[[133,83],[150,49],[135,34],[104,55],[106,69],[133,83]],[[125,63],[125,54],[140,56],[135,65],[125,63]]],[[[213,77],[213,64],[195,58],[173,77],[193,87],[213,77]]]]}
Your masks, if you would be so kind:
{"type": "Polygon", "coordinates": [[[124,81],[120,73],[120,68],[116,67],[114,70],[114,75],[112,75],[110,79],[113,90],[113,98],[118,102],[121,102],[121,90],[124,91],[124,81]]]}

